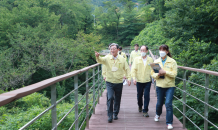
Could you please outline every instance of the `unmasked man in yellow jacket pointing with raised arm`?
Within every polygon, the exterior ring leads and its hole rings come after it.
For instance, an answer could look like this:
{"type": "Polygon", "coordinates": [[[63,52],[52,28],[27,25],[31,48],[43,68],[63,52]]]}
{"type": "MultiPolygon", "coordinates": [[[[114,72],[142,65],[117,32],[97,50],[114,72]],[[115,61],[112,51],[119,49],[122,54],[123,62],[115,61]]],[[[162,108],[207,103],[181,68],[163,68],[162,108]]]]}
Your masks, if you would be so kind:
{"type": "Polygon", "coordinates": [[[118,55],[117,44],[111,44],[111,56],[99,57],[99,53],[95,52],[96,61],[106,67],[106,86],[107,86],[107,107],[108,107],[108,122],[118,119],[120,110],[120,101],[123,89],[123,75],[125,74],[128,79],[128,85],[131,84],[131,75],[127,62],[125,59],[118,55]],[[114,95],[115,94],[115,98],[114,95]],[[115,102],[113,103],[115,99],[115,102]],[[113,117],[114,115],[114,117],[113,117]]]}

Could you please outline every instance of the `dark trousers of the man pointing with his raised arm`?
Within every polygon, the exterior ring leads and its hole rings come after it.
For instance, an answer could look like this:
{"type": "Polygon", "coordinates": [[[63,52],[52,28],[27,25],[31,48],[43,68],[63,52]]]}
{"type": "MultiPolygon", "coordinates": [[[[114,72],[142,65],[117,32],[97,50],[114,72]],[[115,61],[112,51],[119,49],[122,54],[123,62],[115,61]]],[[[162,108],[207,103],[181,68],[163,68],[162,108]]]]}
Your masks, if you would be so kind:
{"type": "Polygon", "coordinates": [[[108,116],[118,115],[123,90],[123,83],[106,82],[108,116]]]}

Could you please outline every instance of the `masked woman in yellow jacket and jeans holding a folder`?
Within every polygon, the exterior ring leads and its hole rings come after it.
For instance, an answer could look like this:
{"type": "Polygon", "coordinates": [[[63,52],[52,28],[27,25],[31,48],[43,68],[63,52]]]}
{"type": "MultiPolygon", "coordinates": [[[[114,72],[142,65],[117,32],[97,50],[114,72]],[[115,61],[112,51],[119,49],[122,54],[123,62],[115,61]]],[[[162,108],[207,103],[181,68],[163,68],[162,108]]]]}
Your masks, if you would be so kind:
{"type": "Polygon", "coordinates": [[[160,58],[154,61],[161,66],[159,73],[155,73],[151,70],[151,76],[156,80],[157,91],[157,105],[155,121],[159,121],[162,114],[162,106],[165,100],[166,106],[166,124],[168,129],[173,129],[173,94],[175,91],[175,78],[177,75],[177,63],[171,58],[169,47],[167,45],[161,45],[159,47],[160,58]],[[162,76],[163,78],[161,78],[162,76]],[[166,97],[166,99],[165,99],[166,97]]]}

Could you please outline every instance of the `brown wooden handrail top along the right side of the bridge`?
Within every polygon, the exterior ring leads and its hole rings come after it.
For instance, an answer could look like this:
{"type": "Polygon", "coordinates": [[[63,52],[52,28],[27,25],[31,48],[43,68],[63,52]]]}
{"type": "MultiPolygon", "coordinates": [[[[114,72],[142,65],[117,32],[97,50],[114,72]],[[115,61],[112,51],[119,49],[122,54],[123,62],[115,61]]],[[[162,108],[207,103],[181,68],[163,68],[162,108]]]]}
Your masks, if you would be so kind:
{"type": "MultiPolygon", "coordinates": [[[[151,50],[149,50],[149,52],[150,52],[152,59],[156,60],[156,58],[154,57],[151,50]]],[[[218,72],[216,72],[216,71],[210,71],[210,70],[205,70],[205,69],[196,69],[196,68],[185,67],[185,66],[178,66],[178,68],[218,76],[218,72]]]]}

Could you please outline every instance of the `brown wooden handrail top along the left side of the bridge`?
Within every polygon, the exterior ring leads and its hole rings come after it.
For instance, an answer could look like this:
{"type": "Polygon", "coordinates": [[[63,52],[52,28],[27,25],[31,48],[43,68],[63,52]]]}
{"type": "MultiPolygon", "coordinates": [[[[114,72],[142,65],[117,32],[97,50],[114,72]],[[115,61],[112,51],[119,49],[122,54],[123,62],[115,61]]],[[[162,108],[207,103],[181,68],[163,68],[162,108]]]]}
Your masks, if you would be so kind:
{"type": "Polygon", "coordinates": [[[43,80],[41,82],[29,85],[29,86],[26,86],[26,87],[23,87],[23,88],[20,88],[20,89],[17,89],[17,90],[13,90],[13,91],[10,91],[10,92],[0,94],[0,107],[5,105],[5,104],[8,104],[8,103],[10,103],[10,102],[12,102],[14,100],[17,100],[19,98],[30,95],[30,94],[32,94],[34,92],[37,92],[39,90],[42,90],[42,89],[44,89],[46,87],[49,87],[49,86],[51,86],[51,85],[53,85],[53,84],[55,84],[57,82],[63,81],[65,79],[68,79],[70,77],[78,75],[78,74],[80,74],[82,72],[88,71],[89,69],[92,69],[92,68],[94,68],[96,66],[99,66],[99,65],[100,64],[94,64],[94,65],[85,67],[85,68],[80,69],[80,70],[75,70],[75,71],[72,71],[70,73],[66,73],[66,74],[63,74],[63,75],[60,75],[60,76],[57,76],[57,77],[46,79],[46,80],[43,80]]]}

